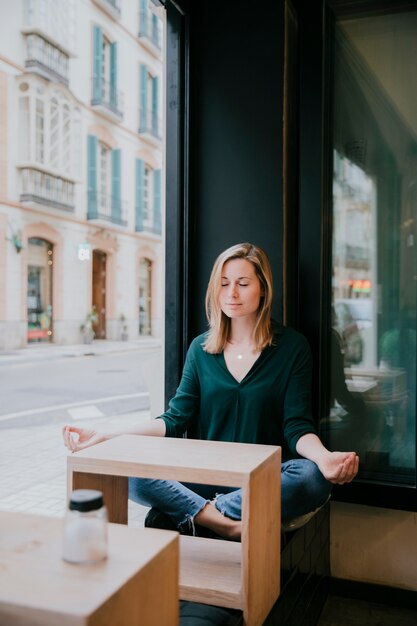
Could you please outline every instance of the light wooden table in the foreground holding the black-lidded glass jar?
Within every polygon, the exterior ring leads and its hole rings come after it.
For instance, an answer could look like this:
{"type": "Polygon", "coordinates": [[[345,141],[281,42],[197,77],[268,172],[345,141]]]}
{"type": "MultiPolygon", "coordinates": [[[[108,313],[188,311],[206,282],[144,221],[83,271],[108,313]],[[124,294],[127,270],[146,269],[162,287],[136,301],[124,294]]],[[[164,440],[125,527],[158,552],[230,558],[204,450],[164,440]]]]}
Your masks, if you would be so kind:
{"type": "Polygon", "coordinates": [[[178,535],[109,525],[109,556],[62,560],[63,520],[0,513],[2,626],[177,626],[178,535]]]}

